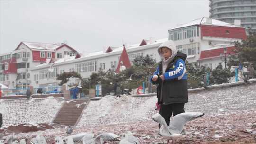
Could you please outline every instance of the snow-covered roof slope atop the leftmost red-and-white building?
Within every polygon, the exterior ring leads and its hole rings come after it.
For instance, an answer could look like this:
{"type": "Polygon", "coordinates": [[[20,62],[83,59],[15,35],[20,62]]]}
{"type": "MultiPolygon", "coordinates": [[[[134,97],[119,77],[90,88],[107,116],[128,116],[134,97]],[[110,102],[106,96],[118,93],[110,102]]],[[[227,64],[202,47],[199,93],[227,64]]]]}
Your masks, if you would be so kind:
{"type": "Polygon", "coordinates": [[[42,50],[55,50],[60,44],[51,44],[51,43],[37,43],[37,42],[22,42],[31,49],[42,49],[42,50]]]}

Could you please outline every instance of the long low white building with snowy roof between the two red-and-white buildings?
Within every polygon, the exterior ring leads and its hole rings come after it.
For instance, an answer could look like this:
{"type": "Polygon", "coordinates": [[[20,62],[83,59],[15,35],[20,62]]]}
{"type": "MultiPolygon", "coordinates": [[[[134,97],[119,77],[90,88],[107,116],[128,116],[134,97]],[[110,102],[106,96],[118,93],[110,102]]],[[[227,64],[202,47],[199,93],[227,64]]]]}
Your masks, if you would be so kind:
{"type": "MultiPolygon", "coordinates": [[[[152,58],[156,58],[157,61],[160,61],[157,48],[167,40],[167,38],[151,41],[142,40],[140,44],[126,46],[129,60],[132,62],[132,60],[137,56],[149,55],[152,58]]],[[[60,81],[56,80],[56,74],[61,74],[63,72],[75,71],[80,73],[83,78],[88,78],[92,72],[98,72],[100,68],[103,71],[107,71],[109,69],[114,71],[117,68],[122,50],[123,46],[109,47],[106,51],[99,51],[87,55],[83,54],[83,56],[79,58],[75,58],[76,56],[65,57],[55,61],[54,63],[38,65],[31,69],[32,74],[34,75],[32,85],[34,87],[45,87],[48,85],[57,86],[60,81]],[[49,73],[50,67],[54,69],[54,72],[50,72],[51,74],[46,77],[46,73],[49,73]],[[35,79],[37,77],[39,79],[35,79]]]]}

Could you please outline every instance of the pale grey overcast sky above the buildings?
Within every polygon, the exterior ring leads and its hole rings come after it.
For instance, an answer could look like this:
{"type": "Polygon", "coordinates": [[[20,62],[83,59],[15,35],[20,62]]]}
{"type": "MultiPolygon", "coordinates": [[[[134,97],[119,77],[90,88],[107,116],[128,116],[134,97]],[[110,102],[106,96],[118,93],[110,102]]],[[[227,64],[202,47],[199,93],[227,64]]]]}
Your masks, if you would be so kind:
{"type": "Polygon", "coordinates": [[[80,53],[167,38],[209,16],[208,0],[0,0],[0,54],[21,41],[61,43],[80,53]]]}

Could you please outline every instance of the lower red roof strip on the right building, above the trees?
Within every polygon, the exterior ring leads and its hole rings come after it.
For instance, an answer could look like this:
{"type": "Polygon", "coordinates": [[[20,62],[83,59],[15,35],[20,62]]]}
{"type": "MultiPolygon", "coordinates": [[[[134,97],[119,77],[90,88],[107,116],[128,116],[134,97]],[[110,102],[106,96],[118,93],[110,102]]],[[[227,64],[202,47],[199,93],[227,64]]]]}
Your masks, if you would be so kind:
{"type": "MultiPolygon", "coordinates": [[[[235,46],[227,47],[227,55],[229,54],[236,54],[233,50],[235,46]]],[[[220,57],[221,54],[224,54],[224,48],[212,49],[212,50],[205,50],[201,51],[199,60],[209,59],[214,57],[220,57]]]]}

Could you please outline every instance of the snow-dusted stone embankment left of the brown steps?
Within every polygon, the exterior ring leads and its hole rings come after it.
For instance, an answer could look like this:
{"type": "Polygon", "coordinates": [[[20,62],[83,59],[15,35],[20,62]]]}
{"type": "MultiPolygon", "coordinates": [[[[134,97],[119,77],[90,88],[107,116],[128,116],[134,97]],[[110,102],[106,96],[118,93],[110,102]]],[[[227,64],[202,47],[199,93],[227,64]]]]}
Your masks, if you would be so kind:
{"type": "Polygon", "coordinates": [[[58,112],[62,98],[0,99],[3,126],[50,123],[58,112]]]}

